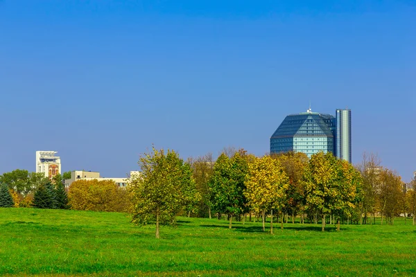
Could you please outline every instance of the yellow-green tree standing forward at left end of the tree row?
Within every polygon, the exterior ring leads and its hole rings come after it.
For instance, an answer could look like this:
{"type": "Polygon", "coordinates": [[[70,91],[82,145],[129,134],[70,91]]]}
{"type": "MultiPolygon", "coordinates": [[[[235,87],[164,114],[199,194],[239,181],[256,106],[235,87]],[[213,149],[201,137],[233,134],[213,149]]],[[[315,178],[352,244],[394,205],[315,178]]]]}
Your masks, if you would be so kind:
{"type": "Polygon", "coordinates": [[[141,175],[130,180],[132,222],[156,224],[155,237],[160,238],[159,224],[175,225],[175,216],[189,204],[196,193],[195,181],[188,164],[173,150],[156,150],[140,157],[141,175]]]}

